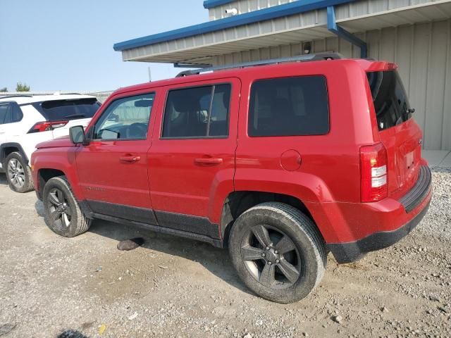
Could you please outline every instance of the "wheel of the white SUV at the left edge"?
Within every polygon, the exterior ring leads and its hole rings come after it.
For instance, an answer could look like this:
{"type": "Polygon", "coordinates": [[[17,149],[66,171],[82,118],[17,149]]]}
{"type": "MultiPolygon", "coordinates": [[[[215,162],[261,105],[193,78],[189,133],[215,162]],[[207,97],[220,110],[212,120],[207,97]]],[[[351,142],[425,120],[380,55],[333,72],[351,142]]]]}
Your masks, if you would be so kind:
{"type": "Polygon", "coordinates": [[[33,179],[31,169],[27,165],[23,156],[18,152],[13,152],[6,157],[6,180],[9,187],[15,192],[31,192],[33,179]]]}

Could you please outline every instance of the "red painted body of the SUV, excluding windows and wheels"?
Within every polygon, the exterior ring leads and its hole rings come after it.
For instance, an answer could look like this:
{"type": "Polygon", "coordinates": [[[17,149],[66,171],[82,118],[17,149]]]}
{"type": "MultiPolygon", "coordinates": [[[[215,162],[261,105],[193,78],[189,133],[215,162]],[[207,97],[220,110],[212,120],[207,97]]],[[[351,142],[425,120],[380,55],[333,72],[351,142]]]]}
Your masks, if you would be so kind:
{"type": "Polygon", "coordinates": [[[91,142],[68,139],[39,144],[32,156],[38,172],[63,171],[79,201],[85,199],[208,218],[221,225],[227,196],[237,191],[293,196],[307,207],[326,243],[352,242],[374,232],[396,230],[412,220],[431,192],[407,213],[398,199],[419,175],[421,130],[414,119],[378,131],[366,72],[392,64],[364,60],[285,63],[178,77],[119,89],[101,106],[89,130],[109,104],[123,96],[155,92],[146,140],[91,142]],[[330,131],[320,136],[248,137],[252,82],[271,77],[326,77],[330,131]],[[169,89],[232,84],[227,138],[161,139],[169,89]],[[388,158],[388,196],[362,203],[359,149],[382,143],[388,158]],[[121,158],[135,158],[133,163],[121,158]],[[93,189],[94,188],[94,189],[93,189]]]}

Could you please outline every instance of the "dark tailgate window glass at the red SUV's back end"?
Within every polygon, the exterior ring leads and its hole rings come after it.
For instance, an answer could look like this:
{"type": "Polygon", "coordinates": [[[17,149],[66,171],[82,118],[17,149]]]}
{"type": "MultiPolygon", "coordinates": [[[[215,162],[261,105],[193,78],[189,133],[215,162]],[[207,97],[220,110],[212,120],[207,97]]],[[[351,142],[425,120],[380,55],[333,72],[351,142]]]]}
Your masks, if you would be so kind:
{"type": "Polygon", "coordinates": [[[395,70],[366,73],[378,129],[385,130],[412,118],[409,100],[400,75],[395,70]]]}

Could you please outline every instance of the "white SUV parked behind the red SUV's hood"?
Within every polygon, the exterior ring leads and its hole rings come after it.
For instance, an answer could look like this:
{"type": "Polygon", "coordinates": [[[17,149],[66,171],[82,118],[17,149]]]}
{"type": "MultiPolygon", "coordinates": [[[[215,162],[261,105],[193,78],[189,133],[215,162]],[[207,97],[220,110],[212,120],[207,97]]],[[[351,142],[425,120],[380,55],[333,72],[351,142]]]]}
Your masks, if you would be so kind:
{"type": "Polygon", "coordinates": [[[100,104],[79,94],[0,96],[0,170],[15,192],[30,192],[30,156],[39,142],[69,134],[73,125],[87,126],[100,104]]]}

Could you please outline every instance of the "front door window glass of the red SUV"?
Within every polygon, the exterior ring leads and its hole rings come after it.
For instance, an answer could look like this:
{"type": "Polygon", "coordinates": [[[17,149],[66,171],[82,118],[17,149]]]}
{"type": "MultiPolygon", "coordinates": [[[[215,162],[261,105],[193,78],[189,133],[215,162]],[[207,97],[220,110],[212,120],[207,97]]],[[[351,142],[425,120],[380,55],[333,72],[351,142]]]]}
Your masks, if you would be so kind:
{"type": "Polygon", "coordinates": [[[147,139],[155,94],[113,101],[94,125],[93,139],[147,139]]]}

